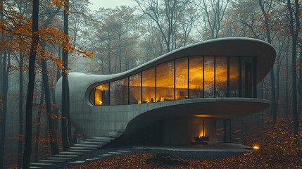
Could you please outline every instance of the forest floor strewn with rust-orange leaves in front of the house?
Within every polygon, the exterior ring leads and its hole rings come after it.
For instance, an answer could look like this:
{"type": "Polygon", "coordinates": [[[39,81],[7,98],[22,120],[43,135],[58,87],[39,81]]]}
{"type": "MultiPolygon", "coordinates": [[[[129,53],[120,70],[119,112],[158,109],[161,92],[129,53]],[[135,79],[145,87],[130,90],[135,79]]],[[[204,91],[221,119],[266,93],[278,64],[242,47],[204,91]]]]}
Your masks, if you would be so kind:
{"type": "MultiPolygon", "coordinates": [[[[245,137],[244,144],[260,149],[246,152],[198,152],[191,158],[168,151],[132,153],[72,167],[76,168],[302,168],[302,146],[295,144],[291,120],[278,119],[272,131],[271,121],[245,137]]],[[[302,127],[296,138],[302,140],[302,127]]]]}

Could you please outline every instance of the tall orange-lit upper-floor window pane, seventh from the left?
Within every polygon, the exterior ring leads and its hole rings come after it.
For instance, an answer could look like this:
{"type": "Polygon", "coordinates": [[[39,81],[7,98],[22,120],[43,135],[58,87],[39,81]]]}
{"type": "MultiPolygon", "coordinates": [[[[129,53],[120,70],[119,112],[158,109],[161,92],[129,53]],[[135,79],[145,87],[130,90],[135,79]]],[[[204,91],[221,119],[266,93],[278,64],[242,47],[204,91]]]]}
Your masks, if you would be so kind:
{"type": "Polygon", "coordinates": [[[203,57],[189,58],[189,97],[203,97],[203,57]]]}

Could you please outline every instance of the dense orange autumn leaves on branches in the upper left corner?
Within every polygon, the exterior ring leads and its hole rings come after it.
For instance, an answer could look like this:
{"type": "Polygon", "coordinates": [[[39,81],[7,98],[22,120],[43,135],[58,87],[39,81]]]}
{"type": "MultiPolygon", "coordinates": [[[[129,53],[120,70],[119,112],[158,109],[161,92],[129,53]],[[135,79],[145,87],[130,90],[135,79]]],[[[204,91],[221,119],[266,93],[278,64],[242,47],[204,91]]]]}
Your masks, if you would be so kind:
{"type": "MultiPolygon", "coordinates": [[[[57,5],[56,2],[54,5],[57,5]]],[[[32,37],[32,20],[29,16],[22,15],[15,11],[16,4],[4,0],[3,13],[4,22],[0,22],[0,33],[5,35],[5,38],[0,42],[0,49],[6,49],[13,52],[24,52],[25,56],[29,56],[30,44],[32,37]]],[[[43,23],[43,22],[42,22],[43,23]]],[[[37,48],[37,56],[44,58],[46,61],[52,61],[63,69],[61,56],[43,49],[42,41],[48,45],[56,45],[63,51],[68,51],[77,56],[92,58],[94,52],[85,51],[81,46],[76,46],[71,42],[66,42],[66,39],[72,39],[64,34],[57,27],[40,27],[39,28],[39,46],[37,48]]],[[[38,61],[40,59],[37,59],[38,61]]],[[[26,69],[24,69],[26,70],[26,69]]]]}

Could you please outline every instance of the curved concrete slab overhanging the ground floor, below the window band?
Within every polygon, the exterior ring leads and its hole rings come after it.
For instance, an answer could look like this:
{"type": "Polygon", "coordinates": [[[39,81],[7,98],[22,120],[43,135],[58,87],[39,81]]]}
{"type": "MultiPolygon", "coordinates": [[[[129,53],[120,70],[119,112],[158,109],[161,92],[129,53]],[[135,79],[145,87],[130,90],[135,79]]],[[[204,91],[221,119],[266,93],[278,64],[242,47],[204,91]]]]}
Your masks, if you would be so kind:
{"type": "Polygon", "coordinates": [[[127,136],[140,128],[168,118],[182,116],[214,119],[241,118],[265,110],[270,106],[270,101],[252,98],[207,98],[165,101],[149,105],[153,105],[149,111],[140,113],[127,124],[125,133],[127,136]]]}

